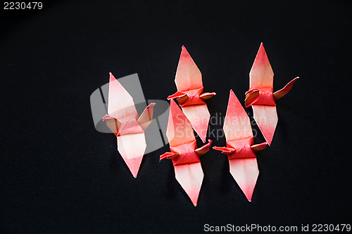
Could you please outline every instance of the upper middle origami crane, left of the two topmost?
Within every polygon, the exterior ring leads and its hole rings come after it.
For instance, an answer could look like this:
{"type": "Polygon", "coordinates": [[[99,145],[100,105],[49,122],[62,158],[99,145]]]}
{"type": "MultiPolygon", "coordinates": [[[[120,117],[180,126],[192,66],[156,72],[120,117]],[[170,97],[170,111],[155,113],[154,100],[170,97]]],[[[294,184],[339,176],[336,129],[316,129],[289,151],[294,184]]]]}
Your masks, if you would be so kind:
{"type": "Polygon", "coordinates": [[[205,143],[210,114],[204,100],[211,98],[216,93],[203,93],[201,71],[184,46],[182,46],[177,67],[175,84],[177,93],[168,96],[168,100],[177,98],[184,115],[191,122],[191,126],[201,141],[205,143]]]}

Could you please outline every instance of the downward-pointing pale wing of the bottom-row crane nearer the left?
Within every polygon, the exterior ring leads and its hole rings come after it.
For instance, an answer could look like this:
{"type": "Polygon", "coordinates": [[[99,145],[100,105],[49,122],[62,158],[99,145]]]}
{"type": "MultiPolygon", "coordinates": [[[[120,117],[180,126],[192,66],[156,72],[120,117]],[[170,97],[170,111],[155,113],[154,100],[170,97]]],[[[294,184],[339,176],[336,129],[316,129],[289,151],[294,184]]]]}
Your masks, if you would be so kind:
{"type": "Polygon", "coordinates": [[[175,177],[191,199],[194,207],[197,205],[203,176],[200,162],[175,165],[175,177]]]}

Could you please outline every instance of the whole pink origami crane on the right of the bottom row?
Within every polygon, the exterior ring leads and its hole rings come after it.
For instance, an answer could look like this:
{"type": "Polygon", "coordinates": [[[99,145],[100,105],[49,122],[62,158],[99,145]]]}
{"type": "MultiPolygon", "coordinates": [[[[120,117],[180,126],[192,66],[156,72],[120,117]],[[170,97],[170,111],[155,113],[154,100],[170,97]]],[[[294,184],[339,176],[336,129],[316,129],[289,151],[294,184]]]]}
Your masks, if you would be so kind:
{"type": "Polygon", "coordinates": [[[214,146],[213,149],[220,150],[227,155],[230,173],[246,195],[247,200],[251,202],[259,174],[255,152],[265,149],[266,143],[253,145],[251,122],[232,90],[223,129],[227,146],[214,146]]]}

